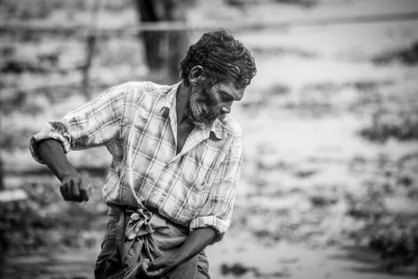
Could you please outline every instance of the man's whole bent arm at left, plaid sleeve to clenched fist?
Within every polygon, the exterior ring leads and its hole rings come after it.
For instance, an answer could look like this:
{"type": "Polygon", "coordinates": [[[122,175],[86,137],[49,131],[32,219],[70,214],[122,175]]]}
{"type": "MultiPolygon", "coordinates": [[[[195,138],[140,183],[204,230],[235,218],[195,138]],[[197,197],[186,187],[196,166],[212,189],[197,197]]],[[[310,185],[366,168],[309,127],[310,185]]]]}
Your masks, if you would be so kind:
{"type": "Polygon", "coordinates": [[[61,121],[49,121],[31,138],[29,147],[38,163],[45,163],[61,181],[67,201],[88,200],[88,179],[83,179],[65,155],[71,150],[104,146],[119,140],[126,88],[111,87],[98,98],[68,112],[61,121]]]}

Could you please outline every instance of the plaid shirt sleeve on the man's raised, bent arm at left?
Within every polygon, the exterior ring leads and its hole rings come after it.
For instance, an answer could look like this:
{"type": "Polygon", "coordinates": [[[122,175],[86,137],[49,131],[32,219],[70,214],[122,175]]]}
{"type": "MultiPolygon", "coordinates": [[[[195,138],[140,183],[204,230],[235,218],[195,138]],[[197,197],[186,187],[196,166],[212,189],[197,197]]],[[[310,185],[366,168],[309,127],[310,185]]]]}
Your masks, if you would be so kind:
{"type": "Polygon", "coordinates": [[[65,156],[71,150],[104,146],[118,140],[123,121],[125,86],[107,89],[98,98],[68,112],[61,121],[49,121],[40,133],[31,137],[29,148],[33,158],[43,161],[36,143],[42,140],[59,141],[65,156]]]}

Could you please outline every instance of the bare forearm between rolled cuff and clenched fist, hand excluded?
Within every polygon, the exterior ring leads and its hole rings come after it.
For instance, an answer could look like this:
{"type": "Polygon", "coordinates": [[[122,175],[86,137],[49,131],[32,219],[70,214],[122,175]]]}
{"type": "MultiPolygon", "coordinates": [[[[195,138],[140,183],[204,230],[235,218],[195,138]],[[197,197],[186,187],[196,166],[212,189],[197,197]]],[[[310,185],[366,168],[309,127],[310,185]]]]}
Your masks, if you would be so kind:
{"type": "Polygon", "coordinates": [[[42,140],[37,144],[40,158],[62,182],[65,176],[77,174],[77,169],[65,157],[63,146],[57,140],[42,140]]]}

